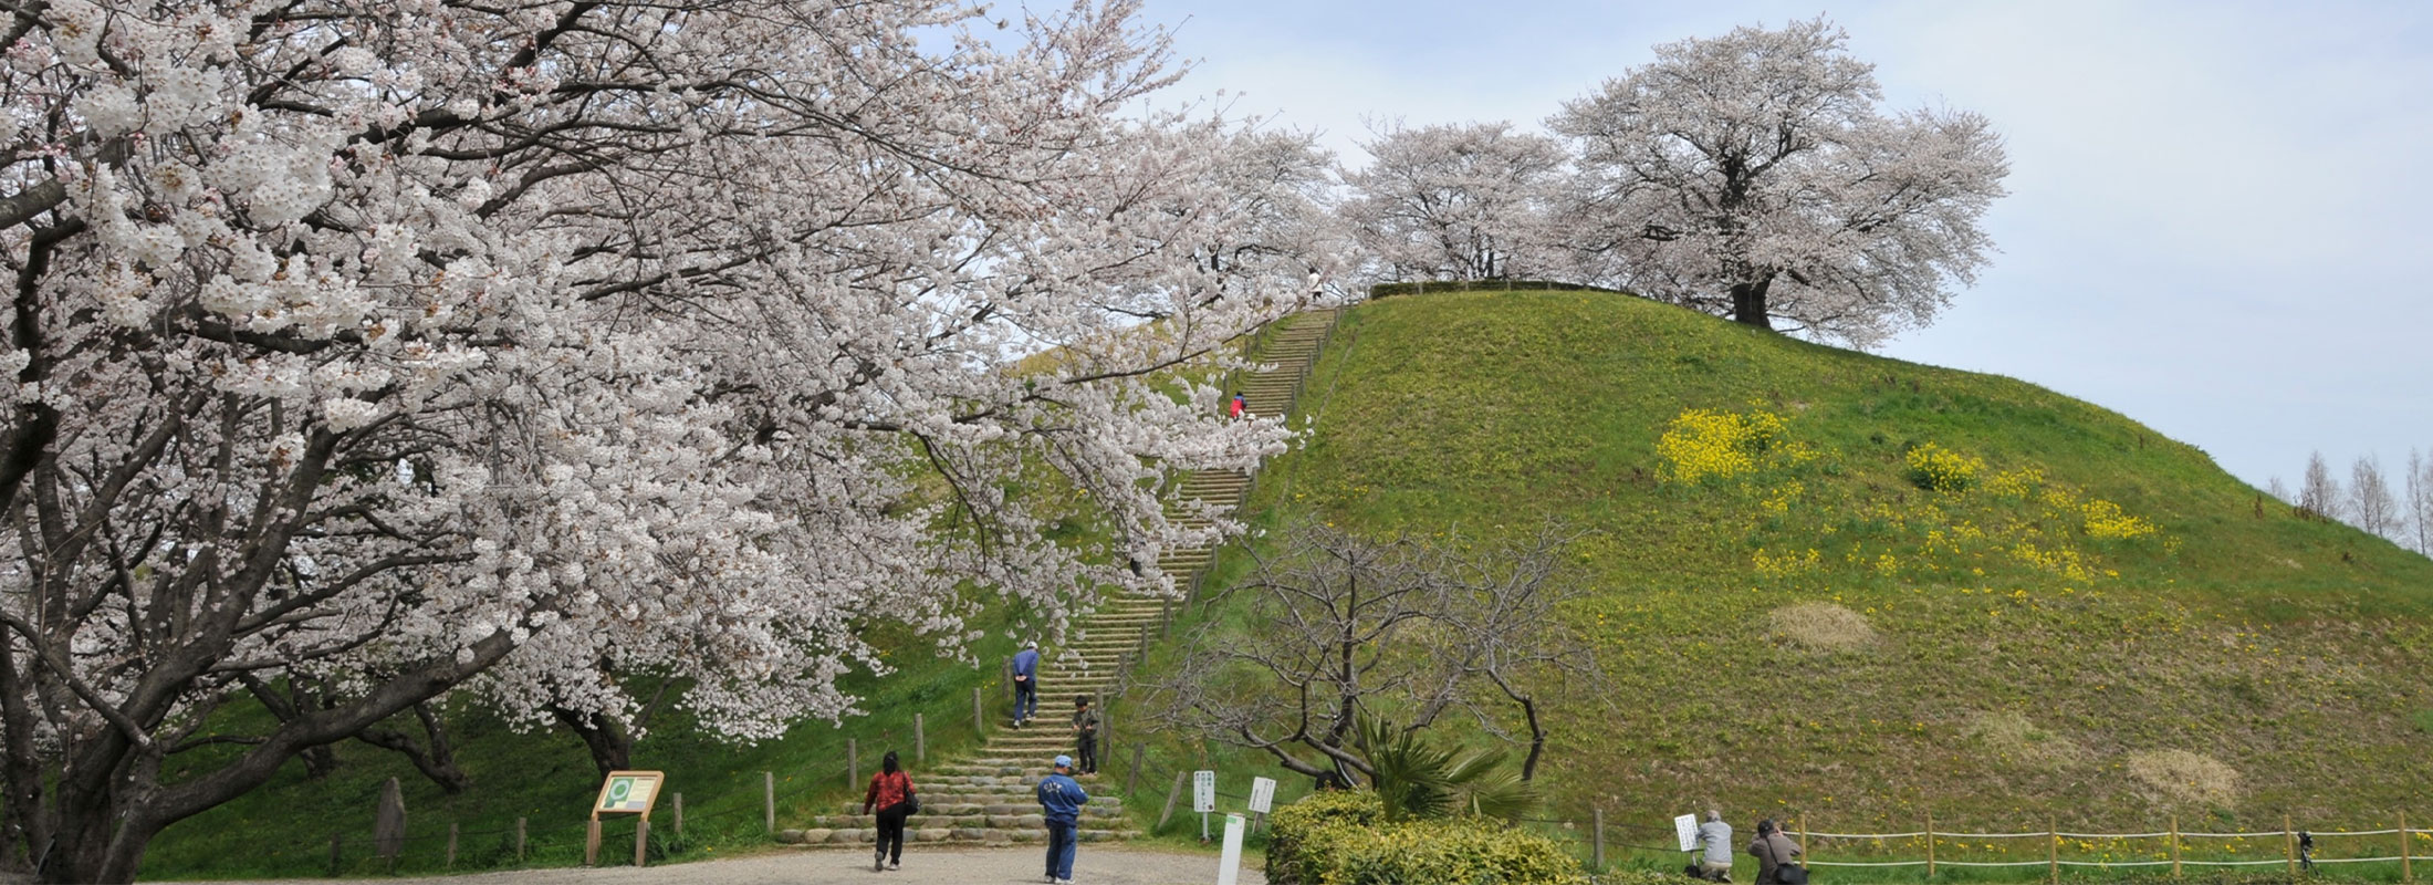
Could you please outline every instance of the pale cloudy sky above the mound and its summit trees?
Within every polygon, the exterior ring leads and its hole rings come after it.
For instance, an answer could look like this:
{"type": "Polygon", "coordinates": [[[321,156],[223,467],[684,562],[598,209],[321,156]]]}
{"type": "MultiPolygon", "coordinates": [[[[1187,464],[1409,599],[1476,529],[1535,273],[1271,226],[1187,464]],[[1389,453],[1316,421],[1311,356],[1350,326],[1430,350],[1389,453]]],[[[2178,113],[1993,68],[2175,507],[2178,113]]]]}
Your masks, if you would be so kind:
{"type": "Polygon", "coordinates": [[[1993,267],[1886,355],[1997,372],[2292,484],[2433,455],[2433,5],[1148,0],[1182,90],[1324,131],[1525,126],[1652,46],[1825,12],[1895,107],[1993,117],[1993,267]]]}

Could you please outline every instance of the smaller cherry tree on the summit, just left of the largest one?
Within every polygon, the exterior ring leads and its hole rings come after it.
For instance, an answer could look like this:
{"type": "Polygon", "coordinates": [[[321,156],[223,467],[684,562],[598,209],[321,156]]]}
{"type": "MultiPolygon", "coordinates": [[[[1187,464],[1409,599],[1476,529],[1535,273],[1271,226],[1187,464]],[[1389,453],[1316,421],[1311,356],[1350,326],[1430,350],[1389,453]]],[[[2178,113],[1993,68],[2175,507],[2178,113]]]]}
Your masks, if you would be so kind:
{"type": "Polygon", "coordinates": [[[1511,124],[1394,124],[1345,173],[1343,219],[1389,280],[1506,280],[1557,265],[1562,143],[1511,124]]]}

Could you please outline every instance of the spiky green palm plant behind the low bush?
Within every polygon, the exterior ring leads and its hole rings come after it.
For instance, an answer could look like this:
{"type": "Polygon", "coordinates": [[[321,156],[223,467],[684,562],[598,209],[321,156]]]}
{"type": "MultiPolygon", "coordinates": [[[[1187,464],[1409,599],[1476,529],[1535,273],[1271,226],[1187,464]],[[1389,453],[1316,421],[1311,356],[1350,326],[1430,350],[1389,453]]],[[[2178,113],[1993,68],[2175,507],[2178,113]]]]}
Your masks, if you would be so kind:
{"type": "Polygon", "coordinates": [[[1362,715],[1358,746],[1370,763],[1370,788],[1384,802],[1384,819],[1482,814],[1518,819],[1535,810],[1543,793],[1506,766],[1506,749],[1472,749],[1423,739],[1418,729],[1397,732],[1389,722],[1362,715]]]}

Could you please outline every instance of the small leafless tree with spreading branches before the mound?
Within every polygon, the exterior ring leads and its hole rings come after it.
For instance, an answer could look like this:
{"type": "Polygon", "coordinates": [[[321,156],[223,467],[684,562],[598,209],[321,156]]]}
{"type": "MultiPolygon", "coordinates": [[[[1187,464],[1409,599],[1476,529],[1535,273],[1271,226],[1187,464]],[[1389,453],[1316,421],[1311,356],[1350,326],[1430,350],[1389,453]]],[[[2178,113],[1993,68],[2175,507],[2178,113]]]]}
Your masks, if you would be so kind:
{"type": "Polygon", "coordinates": [[[1161,729],[1345,780],[1377,773],[1358,744],[1362,715],[1389,715],[1401,734],[1467,715],[1523,742],[1533,778],[1545,754],[1535,686],[1603,681],[1557,618],[1581,593],[1557,574],[1564,545],[1552,528],[1511,545],[1292,528],[1280,549],[1253,549],[1251,576],[1221,596],[1260,625],[1255,642],[1199,635],[1165,678],[1141,686],[1141,708],[1161,729]]]}

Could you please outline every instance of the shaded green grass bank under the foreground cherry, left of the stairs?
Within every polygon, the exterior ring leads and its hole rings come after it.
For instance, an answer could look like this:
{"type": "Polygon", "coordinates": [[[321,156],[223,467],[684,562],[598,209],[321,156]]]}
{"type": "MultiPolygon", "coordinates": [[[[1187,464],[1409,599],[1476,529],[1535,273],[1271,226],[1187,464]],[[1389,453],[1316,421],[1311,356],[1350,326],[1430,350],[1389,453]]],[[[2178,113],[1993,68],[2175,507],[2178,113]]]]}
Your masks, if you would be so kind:
{"type": "MultiPolygon", "coordinates": [[[[983,618],[980,627],[1000,627],[983,618]]],[[[659,861],[701,861],[730,853],[769,851],[774,844],[762,822],[762,773],[776,776],[779,827],[803,827],[813,814],[835,814],[844,800],[861,797],[861,783],[847,788],[847,739],[859,742],[861,778],[895,749],[912,761],[912,715],[927,717],[929,759],[951,759],[978,746],[971,727],[971,688],[985,688],[990,710],[1002,710],[1002,686],[995,673],[1012,639],[990,630],[976,644],[985,666],[968,666],[932,654],[932,639],[895,630],[871,637],[890,649],[898,669],[888,676],[856,671],[844,678],[847,693],[861,695],[869,717],[842,725],[803,722],[786,737],[759,744],[735,744],[701,732],[684,710],[669,710],[635,742],[633,766],[667,771],[667,790],[684,793],[684,839],[674,836],[672,800],[659,797],[652,812],[652,856],[659,861]]],[[[263,715],[238,710],[236,715],[263,715]]],[[[387,778],[397,778],[406,800],[406,846],[399,873],[438,873],[448,858],[448,827],[457,827],[455,870],[516,866],[577,866],[584,849],[584,819],[599,793],[591,756],[564,729],[516,729],[479,705],[448,710],[457,761],[472,776],[462,795],[445,795],[414,771],[404,756],[367,744],[336,744],[341,766],[326,778],[307,778],[302,761],[290,761],[277,778],[238,800],[173,824],[148,846],[141,875],[146,880],[180,878],[302,878],[331,870],[331,836],[341,836],[338,873],[382,875],[389,868],[372,858],[372,817],[387,778]],[[513,856],[516,819],[526,819],[526,861],[513,856]]],[[[392,727],[416,734],[406,717],[392,727]]],[[[180,766],[209,771],[209,751],[178,756],[180,766]]],[[[170,771],[178,776],[178,766],[170,771]]],[[[633,814],[613,814],[603,824],[603,861],[630,863],[633,814]]]]}

